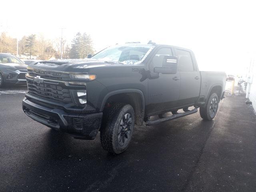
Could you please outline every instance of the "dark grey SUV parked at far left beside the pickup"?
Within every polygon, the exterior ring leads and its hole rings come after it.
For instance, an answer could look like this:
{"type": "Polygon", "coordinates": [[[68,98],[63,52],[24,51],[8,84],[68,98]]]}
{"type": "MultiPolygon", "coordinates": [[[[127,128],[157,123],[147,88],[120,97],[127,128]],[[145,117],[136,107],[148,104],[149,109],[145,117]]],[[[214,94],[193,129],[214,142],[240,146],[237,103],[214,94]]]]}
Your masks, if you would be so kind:
{"type": "Polygon", "coordinates": [[[26,84],[27,66],[8,53],[0,53],[0,87],[4,84],[26,84]]]}

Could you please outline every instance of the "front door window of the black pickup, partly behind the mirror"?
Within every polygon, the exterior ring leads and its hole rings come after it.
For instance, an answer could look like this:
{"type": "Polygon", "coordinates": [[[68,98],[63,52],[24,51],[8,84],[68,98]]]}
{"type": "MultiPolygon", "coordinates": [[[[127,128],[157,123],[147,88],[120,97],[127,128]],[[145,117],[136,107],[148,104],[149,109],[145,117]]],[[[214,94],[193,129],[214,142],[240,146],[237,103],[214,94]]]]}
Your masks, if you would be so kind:
{"type": "Polygon", "coordinates": [[[149,69],[153,71],[155,67],[162,67],[165,56],[172,56],[171,48],[161,48],[158,50],[150,62],[149,69]]]}

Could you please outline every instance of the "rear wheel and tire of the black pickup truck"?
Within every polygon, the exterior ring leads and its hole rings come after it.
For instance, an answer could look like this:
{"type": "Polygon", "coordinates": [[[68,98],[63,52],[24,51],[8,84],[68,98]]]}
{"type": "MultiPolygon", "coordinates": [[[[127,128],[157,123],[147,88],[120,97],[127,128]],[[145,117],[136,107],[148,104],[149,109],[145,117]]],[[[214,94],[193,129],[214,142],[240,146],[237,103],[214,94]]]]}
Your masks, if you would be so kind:
{"type": "Polygon", "coordinates": [[[200,116],[204,120],[212,120],[218,111],[219,98],[216,93],[211,94],[206,104],[206,107],[200,107],[200,116]]]}

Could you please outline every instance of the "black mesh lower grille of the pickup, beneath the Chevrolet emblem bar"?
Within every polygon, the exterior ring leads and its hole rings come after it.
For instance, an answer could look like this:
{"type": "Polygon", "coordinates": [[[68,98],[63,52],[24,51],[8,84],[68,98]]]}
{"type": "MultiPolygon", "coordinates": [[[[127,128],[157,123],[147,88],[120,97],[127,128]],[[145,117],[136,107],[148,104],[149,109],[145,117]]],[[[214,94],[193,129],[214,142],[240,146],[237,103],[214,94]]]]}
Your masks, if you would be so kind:
{"type": "Polygon", "coordinates": [[[34,96],[57,102],[72,103],[72,98],[68,89],[47,82],[37,83],[29,79],[27,79],[27,82],[28,92],[34,96]]]}

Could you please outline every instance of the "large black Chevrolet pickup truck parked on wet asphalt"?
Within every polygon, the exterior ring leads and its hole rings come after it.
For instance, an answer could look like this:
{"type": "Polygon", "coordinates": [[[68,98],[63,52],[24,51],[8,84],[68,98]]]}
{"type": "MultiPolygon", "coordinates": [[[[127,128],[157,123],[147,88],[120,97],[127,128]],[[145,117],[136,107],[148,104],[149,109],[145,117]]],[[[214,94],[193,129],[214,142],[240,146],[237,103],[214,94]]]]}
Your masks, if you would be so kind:
{"type": "Polygon", "coordinates": [[[212,120],[224,98],[226,74],[199,71],[188,49],[131,43],[84,60],[30,64],[26,80],[22,108],[30,118],[77,139],[94,139],[100,131],[102,147],[119,154],[134,124],[166,122],[197,108],[212,120]]]}

